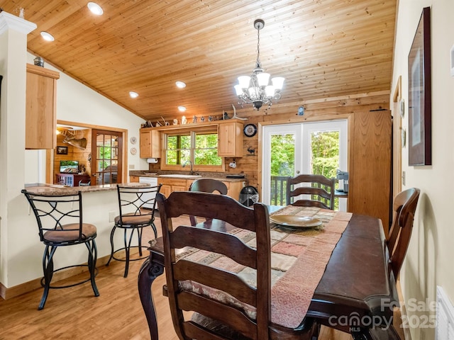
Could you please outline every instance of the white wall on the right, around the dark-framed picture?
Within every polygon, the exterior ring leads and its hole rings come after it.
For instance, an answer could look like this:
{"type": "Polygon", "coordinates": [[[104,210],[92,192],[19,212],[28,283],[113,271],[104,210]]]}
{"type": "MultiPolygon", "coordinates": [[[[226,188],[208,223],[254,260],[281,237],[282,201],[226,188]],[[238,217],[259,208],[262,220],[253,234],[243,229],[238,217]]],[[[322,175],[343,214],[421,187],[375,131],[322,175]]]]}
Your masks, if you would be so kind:
{"type": "MultiPolygon", "coordinates": [[[[391,89],[402,76],[402,92],[408,113],[408,55],[423,7],[431,7],[432,72],[432,164],[409,166],[408,147],[402,150],[405,188],[421,189],[409,251],[401,271],[401,283],[412,339],[434,339],[433,323],[423,324],[435,312],[426,304],[436,300],[436,285],[443,286],[454,301],[454,77],[450,76],[450,48],[454,45],[454,2],[452,0],[399,0],[394,72],[391,89]],[[416,311],[409,302],[423,303],[416,311]],[[425,327],[426,326],[426,327],[425,327]]],[[[404,128],[408,132],[408,115],[404,128]]]]}

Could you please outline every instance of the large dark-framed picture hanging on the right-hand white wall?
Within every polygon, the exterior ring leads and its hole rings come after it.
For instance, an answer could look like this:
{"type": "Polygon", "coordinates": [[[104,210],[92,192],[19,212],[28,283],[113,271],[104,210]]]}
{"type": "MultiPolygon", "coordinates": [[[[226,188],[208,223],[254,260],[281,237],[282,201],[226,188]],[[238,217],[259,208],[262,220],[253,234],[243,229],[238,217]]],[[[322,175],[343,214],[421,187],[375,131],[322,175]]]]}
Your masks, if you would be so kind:
{"type": "Polygon", "coordinates": [[[409,165],[432,164],[431,21],[423,8],[409,52],[409,165]]]}

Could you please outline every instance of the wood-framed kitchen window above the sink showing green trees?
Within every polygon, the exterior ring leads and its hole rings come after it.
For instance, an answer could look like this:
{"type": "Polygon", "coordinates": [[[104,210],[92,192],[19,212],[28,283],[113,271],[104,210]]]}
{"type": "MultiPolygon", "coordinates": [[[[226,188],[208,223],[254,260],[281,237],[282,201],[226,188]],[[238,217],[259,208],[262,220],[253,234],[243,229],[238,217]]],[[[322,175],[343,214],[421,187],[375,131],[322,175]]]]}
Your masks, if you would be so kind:
{"type": "Polygon", "coordinates": [[[165,163],[162,169],[194,171],[223,171],[222,157],[218,156],[218,132],[214,128],[178,130],[167,132],[165,140],[165,163]],[[189,163],[190,162],[190,163],[189,163]]]}

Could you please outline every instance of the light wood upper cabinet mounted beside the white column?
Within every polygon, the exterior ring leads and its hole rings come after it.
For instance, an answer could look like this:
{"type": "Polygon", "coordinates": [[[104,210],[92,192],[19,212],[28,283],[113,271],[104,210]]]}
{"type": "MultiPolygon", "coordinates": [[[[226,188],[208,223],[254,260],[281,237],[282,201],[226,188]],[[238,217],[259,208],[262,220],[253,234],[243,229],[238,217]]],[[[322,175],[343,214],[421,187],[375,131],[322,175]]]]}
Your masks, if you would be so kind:
{"type": "Polygon", "coordinates": [[[54,149],[57,146],[56,100],[60,74],[27,64],[26,149],[54,149]]]}

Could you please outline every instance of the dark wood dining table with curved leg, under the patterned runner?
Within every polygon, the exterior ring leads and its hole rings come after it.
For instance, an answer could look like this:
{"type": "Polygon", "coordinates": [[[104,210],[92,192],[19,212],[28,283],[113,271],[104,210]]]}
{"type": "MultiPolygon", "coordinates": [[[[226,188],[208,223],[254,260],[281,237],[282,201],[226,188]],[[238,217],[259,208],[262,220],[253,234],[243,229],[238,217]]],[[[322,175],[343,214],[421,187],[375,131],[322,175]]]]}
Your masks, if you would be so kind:
{"type": "MultiPolygon", "coordinates": [[[[270,208],[272,211],[272,208],[270,208]]],[[[204,222],[201,227],[226,229],[204,222]]],[[[150,256],[138,276],[140,301],[152,340],[158,339],[151,285],[164,272],[162,239],[150,242],[150,256]]],[[[306,317],[352,334],[353,339],[399,339],[392,327],[399,306],[396,283],[380,219],[353,214],[311,298],[306,317]]],[[[301,321],[304,316],[301,316],[301,321]]]]}

